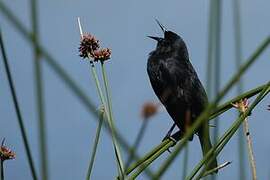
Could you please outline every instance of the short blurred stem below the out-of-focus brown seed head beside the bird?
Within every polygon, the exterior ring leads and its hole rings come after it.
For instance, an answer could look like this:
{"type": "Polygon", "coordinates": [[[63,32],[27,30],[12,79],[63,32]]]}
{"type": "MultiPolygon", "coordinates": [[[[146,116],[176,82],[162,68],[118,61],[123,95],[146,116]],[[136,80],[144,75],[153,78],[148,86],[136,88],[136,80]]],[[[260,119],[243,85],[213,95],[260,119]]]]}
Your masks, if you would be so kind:
{"type": "MultiPolygon", "coordinates": [[[[138,150],[139,149],[139,145],[140,145],[140,142],[142,141],[142,139],[144,137],[144,134],[146,132],[148,122],[149,122],[148,119],[143,120],[141,128],[140,128],[140,130],[138,132],[138,135],[137,135],[137,137],[136,137],[136,139],[134,141],[133,146],[131,147],[132,150],[134,150],[134,149],[138,150]]],[[[134,151],[131,151],[129,153],[128,158],[127,158],[127,162],[126,162],[125,167],[128,167],[133,159],[134,159],[134,151]]]]}

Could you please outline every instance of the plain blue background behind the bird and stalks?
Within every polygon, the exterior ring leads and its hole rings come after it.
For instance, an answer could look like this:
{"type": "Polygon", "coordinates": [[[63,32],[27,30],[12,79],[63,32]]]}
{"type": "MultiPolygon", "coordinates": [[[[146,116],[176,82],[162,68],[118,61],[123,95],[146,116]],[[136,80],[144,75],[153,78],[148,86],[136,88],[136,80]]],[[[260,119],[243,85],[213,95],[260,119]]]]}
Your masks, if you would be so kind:
{"type": "MultiPolygon", "coordinates": [[[[3,0],[30,30],[28,1],[3,0]]],[[[232,1],[222,3],[221,86],[236,72],[234,60],[234,31],[232,1]]],[[[269,35],[270,3],[267,0],[241,1],[243,56],[247,59],[269,35]]],[[[116,126],[125,139],[133,143],[141,125],[140,110],[145,101],[157,100],[146,73],[148,53],[155,43],[147,35],[162,35],[154,19],[159,19],[168,29],[185,40],[192,63],[206,82],[208,1],[39,1],[39,27],[42,45],[57,59],[84,92],[99,105],[96,88],[90,76],[89,64],[78,56],[79,30],[76,18],[81,17],[84,31],[100,39],[102,47],[112,49],[112,59],[107,62],[113,97],[116,126]]],[[[11,72],[27,127],[35,165],[39,165],[37,114],[35,107],[33,55],[31,45],[0,13],[0,26],[4,36],[11,72]]],[[[270,48],[244,75],[244,89],[248,90],[269,80],[270,48]]],[[[43,65],[46,130],[50,179],[84,179],[90,159],[97,123],[78,101],[76,96],[43,65]]],[[[236,95],[233,89],[224,100],[236,95]]],[[[6,179],[31,179],[22,138],[19,131],[7,77],[0,62],[0,138],[16,152],[16,159],[6,162],[6,179]]],[[[270,112],[266,110],[270,97],[257,106],[250,117],[258,179],[270,178],[269,127],[270,112]]],[[[236,118],[236,110],[221,116],[221,132],[236,118]]],[[[159,144],[172,121],[164,111],[151,119],[139,153],[148,152],[159,144]]],[[[189,171],[201,158],[198,138],[190,142],[189,171]]],[[[237,136],[234,136],[219,156],[219,162],[233,163],[220,171],[218,179],[238,179],[237,136]]],[[[151,168],[157,169],[168,156],[162,155],[151,168]]],[[[124,155],[126,158],[126,154],[124,155]]],[[[247,159],[247,155],[245,156],[247,159]]],[[[182,153],[164,175],[164,179],[179,179],[182,173],[182,153]]],[[[246,173],[250,177],[248,161],[246,173]]],[[[113,179],[117,173],[110,137],[102,131],[92,178],[113,179]]],[[[140,176],[138,179],[145,179],[140,176]]]]}

